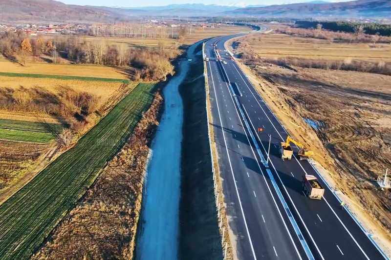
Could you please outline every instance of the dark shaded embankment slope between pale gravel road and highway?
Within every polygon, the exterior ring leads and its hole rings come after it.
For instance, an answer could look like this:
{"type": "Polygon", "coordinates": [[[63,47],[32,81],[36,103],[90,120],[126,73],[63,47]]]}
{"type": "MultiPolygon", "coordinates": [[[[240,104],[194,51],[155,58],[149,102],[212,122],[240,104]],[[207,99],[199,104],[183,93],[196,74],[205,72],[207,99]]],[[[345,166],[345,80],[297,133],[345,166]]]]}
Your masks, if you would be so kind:
{"type": "Polygon", "coordinates": [[[181,260],[223,258],[213,190],[204,79],[192,82],[202,74],[202,57],[199,56],[179,87],[184,107],[178,254],[181,260]]]}

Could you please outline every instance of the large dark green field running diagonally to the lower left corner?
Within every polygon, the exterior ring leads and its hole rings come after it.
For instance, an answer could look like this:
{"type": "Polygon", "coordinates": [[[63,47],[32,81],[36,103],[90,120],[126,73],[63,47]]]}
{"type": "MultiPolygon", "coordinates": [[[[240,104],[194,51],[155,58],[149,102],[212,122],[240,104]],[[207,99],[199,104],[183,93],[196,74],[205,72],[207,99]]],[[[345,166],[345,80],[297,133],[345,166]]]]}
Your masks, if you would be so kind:
{"type": "Polygon", "coordinates": [[[27,260],[39,249],[130,136],[152,103],[152,87],[138,84],[72,149],[0,205],[1,260],[27,260]]]}

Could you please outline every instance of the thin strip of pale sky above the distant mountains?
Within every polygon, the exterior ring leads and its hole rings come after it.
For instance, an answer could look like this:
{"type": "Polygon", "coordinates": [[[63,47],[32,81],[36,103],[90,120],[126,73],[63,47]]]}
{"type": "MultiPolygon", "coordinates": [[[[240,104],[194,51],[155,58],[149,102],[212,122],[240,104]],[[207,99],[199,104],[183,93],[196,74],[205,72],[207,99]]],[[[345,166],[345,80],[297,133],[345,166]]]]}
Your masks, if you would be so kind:
{"type": "MultiPolygon", "coordinates": [[[[225,2],[222,0],[60,0],[66,4],[77,4],[77,5],[94,5],[94,6],[122,6],[122,7],[138,7],[138,6],[158,6],[168,5],[173,3],[204,3],[204,4],[219,4],[219,5],[237,5],[245,6],[248,4],[282,4],[282,3],[297,3],[297,2],[308,2],[311,0],[231,0],[225,2]]],[[[347,0],[327,0],[329,2],[343,2],[347,0]]]]}

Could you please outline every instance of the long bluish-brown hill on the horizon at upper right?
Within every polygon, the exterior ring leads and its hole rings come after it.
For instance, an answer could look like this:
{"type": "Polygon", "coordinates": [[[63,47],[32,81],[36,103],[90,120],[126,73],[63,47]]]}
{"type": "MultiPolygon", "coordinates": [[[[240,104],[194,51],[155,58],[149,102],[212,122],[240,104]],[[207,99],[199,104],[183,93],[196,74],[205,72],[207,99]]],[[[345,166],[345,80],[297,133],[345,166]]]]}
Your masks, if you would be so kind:
{"type": "Polygon", "coordinates": [[[297,3],[270,5],[258,8],[240,8],[225,12],[234,15],[273,15],[273,16],[332,16],[332,17],[391,17],[390,0],[358,0],[337,3],[297,3]]]}

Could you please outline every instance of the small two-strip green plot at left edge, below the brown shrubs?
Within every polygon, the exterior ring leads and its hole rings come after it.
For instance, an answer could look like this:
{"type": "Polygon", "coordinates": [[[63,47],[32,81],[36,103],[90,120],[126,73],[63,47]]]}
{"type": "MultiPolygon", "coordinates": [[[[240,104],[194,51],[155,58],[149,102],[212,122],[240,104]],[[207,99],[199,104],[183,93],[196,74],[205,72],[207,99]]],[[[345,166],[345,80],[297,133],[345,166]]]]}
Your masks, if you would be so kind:
{"type": "Polygon", "coordinates": [[[0,139],[48,143],[63,128],[61,124],[0,119],[0,139]]]}

